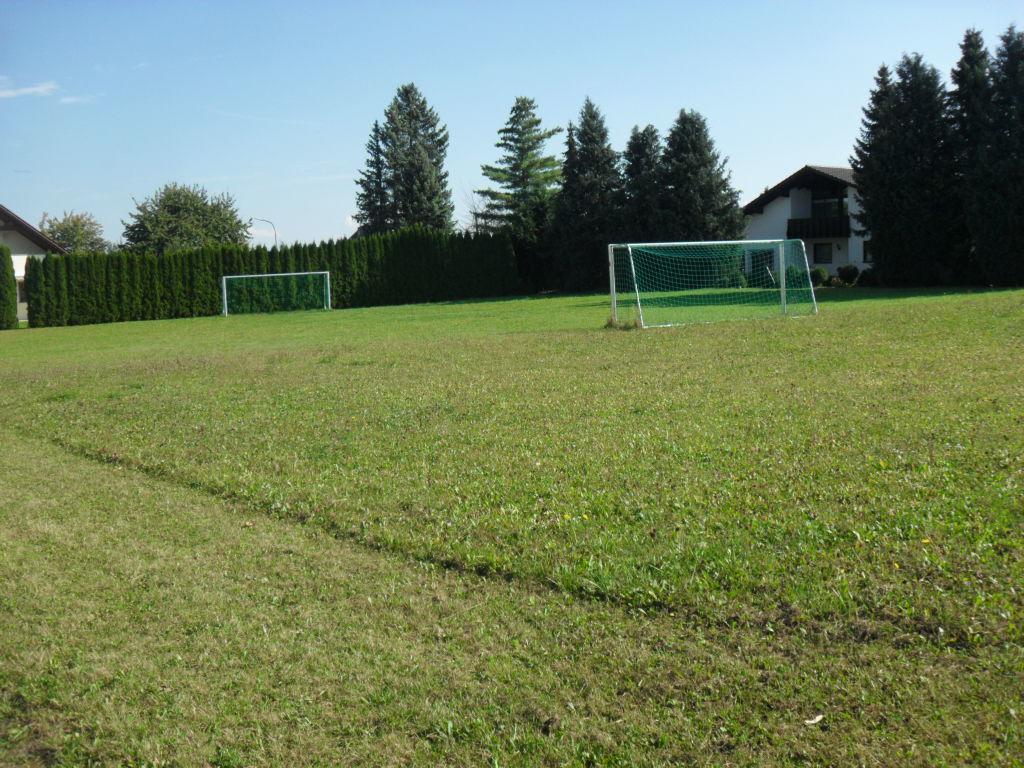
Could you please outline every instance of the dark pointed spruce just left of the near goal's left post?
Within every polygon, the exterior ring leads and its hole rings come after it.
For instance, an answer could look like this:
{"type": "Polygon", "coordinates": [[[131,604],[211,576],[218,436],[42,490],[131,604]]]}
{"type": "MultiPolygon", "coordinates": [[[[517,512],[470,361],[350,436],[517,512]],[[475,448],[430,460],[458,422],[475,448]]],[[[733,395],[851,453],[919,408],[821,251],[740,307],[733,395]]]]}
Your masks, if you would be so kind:
{"type": "Polygon", "coordinates": [[[607,244],[617,240],[623,178],[604,116],[590,98],[569,125],[562,188],[553,221],[554,262],[561,287],[592,290],[606,282],[607,244]]]}

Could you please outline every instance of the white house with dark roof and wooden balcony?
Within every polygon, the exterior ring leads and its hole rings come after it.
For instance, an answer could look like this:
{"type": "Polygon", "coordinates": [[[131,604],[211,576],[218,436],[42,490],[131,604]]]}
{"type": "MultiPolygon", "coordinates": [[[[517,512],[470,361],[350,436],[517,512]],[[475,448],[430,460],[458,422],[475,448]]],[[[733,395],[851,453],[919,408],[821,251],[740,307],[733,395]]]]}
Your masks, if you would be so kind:
{"type": "Polygon", "coordinates": [[[802,240],[812,269],[823,266],[835,274],[853,264],[863,270],[871,257],[869,241],[852,221],[859,210],[851,169],[805,165],[743,206],[746,239],[802,240]]]}

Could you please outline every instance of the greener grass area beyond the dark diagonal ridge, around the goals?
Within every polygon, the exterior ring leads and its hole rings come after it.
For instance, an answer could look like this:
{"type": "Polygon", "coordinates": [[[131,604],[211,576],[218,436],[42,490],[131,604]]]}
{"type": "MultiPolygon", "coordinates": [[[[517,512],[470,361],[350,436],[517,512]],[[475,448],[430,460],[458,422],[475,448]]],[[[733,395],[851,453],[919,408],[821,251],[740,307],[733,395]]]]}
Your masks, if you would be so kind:
{"type": "Polygon", "coordinates": [[[5,396],[34,434],[420,559],[1019,642],[1022,294],[834,296],[642,334],[593,296],[68,329],[16,339],[5,396]]]}

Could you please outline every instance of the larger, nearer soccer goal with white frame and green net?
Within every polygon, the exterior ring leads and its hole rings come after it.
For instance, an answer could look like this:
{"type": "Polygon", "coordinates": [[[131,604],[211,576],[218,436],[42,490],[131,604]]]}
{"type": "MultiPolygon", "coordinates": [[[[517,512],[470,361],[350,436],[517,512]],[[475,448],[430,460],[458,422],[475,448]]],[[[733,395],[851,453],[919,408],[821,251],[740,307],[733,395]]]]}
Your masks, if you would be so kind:
{"type": "Polygon", "coordinates": [[[611,322],[640,328],[818,311],[800,240],[608,246],[611,322]]]}

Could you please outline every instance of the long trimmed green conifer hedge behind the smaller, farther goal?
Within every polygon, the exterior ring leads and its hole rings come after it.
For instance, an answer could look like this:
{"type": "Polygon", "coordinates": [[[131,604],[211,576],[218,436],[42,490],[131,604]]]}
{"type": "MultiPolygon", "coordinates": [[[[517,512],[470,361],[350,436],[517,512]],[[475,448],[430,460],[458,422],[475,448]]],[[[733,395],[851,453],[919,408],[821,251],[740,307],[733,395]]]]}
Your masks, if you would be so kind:
{"type": "Polygon", "coordinates": [[[331,272],[335,308],[508,296],[520,291],[500,234],[413,227],[266,249],[222,246],[156,254],[48,254],[29,259],[29,325],[81,326],[220,313],[220,278],[331,272]]]}

